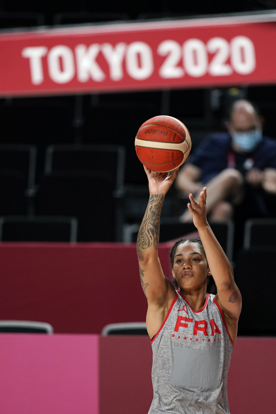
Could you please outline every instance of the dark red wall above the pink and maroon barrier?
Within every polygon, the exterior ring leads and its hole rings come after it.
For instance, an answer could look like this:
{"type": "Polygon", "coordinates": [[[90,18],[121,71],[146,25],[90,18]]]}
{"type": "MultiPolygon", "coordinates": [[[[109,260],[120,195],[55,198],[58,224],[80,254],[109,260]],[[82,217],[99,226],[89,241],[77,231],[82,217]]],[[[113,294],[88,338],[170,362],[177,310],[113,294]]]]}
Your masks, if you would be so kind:
{"type": "MultiPolygon", "coordinates": [[[[167,245],[159,255],[170,276],[167,245]]],[[[1,243],[0,319],[47,322],[55,333],[99,334],[146,320],[135,244],[1,243]]]]}

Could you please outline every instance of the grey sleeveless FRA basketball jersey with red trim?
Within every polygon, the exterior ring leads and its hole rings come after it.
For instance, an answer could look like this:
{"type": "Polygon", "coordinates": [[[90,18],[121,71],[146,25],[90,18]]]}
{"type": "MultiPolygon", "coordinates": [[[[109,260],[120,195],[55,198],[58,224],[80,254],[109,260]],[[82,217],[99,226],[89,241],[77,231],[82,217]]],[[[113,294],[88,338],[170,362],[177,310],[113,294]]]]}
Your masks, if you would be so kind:
{"type": "Polygon", "coordinates": [[[151,341],[154,398],[149,414],[230,414],[227,373],[233,342],[215,295],[193,311],[177,291],[151,341]]]}

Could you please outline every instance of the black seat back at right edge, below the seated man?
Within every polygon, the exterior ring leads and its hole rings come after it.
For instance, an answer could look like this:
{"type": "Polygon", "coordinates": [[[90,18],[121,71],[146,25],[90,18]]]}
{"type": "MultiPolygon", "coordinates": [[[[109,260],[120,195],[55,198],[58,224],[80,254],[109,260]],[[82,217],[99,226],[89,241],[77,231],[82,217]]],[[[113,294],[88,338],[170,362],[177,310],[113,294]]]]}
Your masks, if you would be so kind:
{"type": "Polygon", "coordinates": [[[243,247],[262,247],[276,245],[276,218],[249,219],[245,222],[243,247]]]}

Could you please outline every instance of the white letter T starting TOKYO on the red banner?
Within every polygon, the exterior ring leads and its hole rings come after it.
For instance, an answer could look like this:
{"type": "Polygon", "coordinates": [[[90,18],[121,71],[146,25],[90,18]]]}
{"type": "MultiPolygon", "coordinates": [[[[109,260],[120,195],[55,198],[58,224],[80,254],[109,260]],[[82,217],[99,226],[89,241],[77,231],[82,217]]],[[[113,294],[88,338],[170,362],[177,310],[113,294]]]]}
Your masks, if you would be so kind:
{"type": "Polygon", "coordinates": [[[30,59],[31,83],[39,85],[43,82],[42,58],[46,55],[48,49],[45,46],[24,48],[22,50],[23,58],[30,59]]]}

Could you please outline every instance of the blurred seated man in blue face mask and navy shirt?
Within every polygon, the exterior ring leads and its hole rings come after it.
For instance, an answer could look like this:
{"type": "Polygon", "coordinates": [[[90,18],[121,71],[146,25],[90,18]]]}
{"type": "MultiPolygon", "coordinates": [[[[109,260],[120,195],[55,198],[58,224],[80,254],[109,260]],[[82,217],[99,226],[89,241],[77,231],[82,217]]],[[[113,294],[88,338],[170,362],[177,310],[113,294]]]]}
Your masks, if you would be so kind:
{"type": "MultiPolygon", "coordinates": [[[[276,195],[276,140],[262,135],[261,117],[243,99],[233,104],[226,127],[228,132],[213,133],[197,146],[180,169],[176,188],[197,199],[206,185],[206,213],[214,221],[233,217],[236,206],[245,218],[266,217],[266,195],[276,195]]],[[[192,214],[187,209],[180,219],[190,221],[192,214]]]]}

